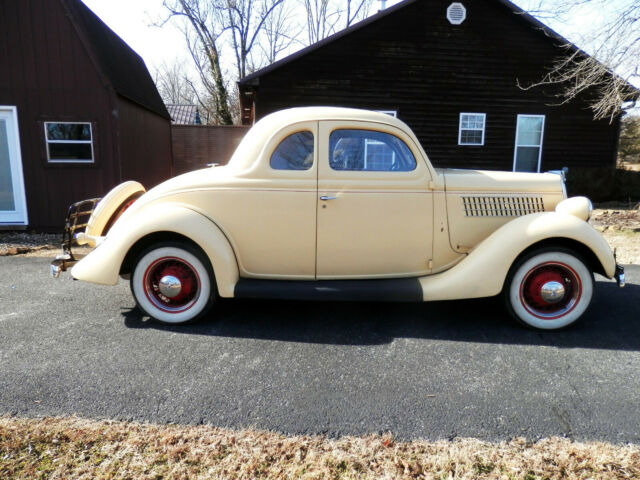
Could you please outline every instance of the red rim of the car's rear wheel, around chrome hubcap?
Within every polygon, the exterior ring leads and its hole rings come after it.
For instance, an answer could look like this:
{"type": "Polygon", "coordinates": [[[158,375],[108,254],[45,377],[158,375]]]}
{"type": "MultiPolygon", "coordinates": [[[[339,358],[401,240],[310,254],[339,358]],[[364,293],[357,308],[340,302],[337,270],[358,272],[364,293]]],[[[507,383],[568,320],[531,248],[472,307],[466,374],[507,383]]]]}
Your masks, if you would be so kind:
{"type": "Polygon", "coordinates": [[[144,293],[149,301],[167,313],[189,310],[200,296],[198,272],[189,262],[178,257],[162,257],[155,260],[144,272],[143,282],[144,293]],[[163,292],[163,281],[166,283],[169,277],[177,280],[180,287],[167,295],[163,292]]]}

